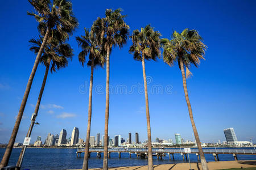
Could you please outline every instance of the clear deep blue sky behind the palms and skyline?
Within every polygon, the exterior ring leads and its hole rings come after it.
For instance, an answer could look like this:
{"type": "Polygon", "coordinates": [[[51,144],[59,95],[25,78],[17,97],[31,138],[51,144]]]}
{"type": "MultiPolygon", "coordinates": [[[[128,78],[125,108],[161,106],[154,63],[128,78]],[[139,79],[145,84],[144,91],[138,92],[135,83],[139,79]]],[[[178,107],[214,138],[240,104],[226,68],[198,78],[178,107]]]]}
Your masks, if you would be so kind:
{"type": "MultiPolygon", "coordinates": [[[[74,126],[80,138],[86,136],[90,69],[82,67],[77,54],[75,36],[84,33],[106,8],[123,8],[130,32],[151,24],[162,37],[170,38],[172,31],[196,29],[208,46],[206,60],[198,69],[192,67],[193,77],[187,80],[189,97],[200,139],[203,142],[225,140],[223,129],[233,127],[240,141],[254,137],[256,142],[256,11],[255,1],[72,1],[79,20],[79,29],[70,39],[75,56],[69,66],[49,74],[38,118],[39,126],[32,131],[31,141],[47,133],[59,134],[66,129],[71,136],[74,126]],[[80,90],[79,90],[80,89],[80,90]]],[[[9,141],[34,64],[35,54],[28,50],[32,37],[38,37],[35,19],[27,15],[32,6],[27,1],[3,1],[1,20],[0,62],[0,143],[9,141]]],[[[128,53],[131,41],[123,49],[115,48],[110,56],[110,84],[124,85],[130,91],[143,84],[142,64],[128,53]]],[[[44,66],[39,66],[28,97],[16,142],[23,142],[31,114],[39,94],[44,66]]],[[[192,127],[185,103],[181,73],[177,65],[169,67],[159,59],[146,62],[150,87],[171,87],[171,92],[149,92],[152,140],[175,139],[180,133],[192,139],[192,127]]],[[[106,70],[94,72],[91,135],[104,135],[106,70]],[[97,87],[97,89],[96,89],[97,87]],[[103,89],[100,89],[100,88],[103,89]],[[98,91],[96,93],[96,90],[98,91]]],[[[152,88],[151,88],[152,89],[152,88]]],[[[109,135],[121,134],[127,139],[139,133],[140,141],[147,138],[144,94],[135,90],[129,94],[110,94],[109,135]]]]}

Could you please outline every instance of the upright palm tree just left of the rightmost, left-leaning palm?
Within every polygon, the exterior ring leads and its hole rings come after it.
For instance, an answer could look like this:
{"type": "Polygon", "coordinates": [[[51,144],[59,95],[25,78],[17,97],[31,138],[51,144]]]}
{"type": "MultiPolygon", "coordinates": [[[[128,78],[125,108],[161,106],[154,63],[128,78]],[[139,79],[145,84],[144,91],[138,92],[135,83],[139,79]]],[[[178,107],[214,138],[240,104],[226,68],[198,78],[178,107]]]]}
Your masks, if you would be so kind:
{"type": "Polygon", "coordinates": [[[145,71],[145,59],[153,59],[160,57],[160,33],[154,31],[150,24],[145,28],[141,28],[141,32],[138,29],[133,31],[131,45],[129,52],[133,54],[133,58],[137,61],[142,61],[143,80],[144,80],[144,94],[146,100],[146,116],[147,116],[147,138],[148,138],[148,169],[153,169],[152,158],[152,145],[151,145],[151,128],[150,128],[150,113],[148,108],[148,96],[147,96],[147,80],[145,71]]]}

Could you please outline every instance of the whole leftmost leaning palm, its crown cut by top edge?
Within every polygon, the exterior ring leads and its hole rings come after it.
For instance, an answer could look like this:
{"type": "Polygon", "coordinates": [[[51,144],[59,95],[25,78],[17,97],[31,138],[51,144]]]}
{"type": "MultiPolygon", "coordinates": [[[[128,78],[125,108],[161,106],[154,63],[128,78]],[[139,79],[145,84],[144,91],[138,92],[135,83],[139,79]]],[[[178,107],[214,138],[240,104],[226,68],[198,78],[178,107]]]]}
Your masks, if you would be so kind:
{"type": "Polygon", "coordinates": [[[28,79],[27,87],[24,92],[22,103],[20,104],[19,113],[16,118],[13,132],[11,133],[5,154],[3,155],[2,161],[0,163],[0,169],[9,163],[11,151],[13,150],[13,145],[19,130],[19,124],[22,120],[24,108],[27,103],[27,98],[30,93],[30,88],[36,73],[36,69],[38,67],[40,57],[42,56],[49,35],[53,35],[52,29],[57,30],[61,39],[67,39],[72,35],[72,32],[78,26],[77,19],[75,16],[73,16],[72,3],[68,0],[55,0],[53,3],[51,3],[50,0],[28,0],[28,2],[30,2],[31,5],[35,8],[35,12],[28,12],[28,15],[34,16],[35,19],[40,23],[39,27],[43,25],[43,27],[46,26],[46,29],[40,32],[44,38],[36,56],[30,78],[28,79]]]}

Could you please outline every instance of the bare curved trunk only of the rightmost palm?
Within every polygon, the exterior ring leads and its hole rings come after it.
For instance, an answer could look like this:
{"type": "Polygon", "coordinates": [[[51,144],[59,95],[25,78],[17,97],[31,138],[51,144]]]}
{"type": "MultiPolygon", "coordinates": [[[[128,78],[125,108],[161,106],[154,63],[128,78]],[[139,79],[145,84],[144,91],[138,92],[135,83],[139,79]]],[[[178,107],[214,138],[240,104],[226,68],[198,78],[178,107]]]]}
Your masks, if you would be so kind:
{"type": "Polygon", "coordinates": [[[189,117],[190,117],[192,128],[193,128],[193,131],[194,131],[194,134],[195,134],[196,144],[197,144],[197,147],[198,147],[198,150],[199,150],[199,155],[200,155],[200,158],[201,158],[202,168],[203,168],[203,170],[208,170],[207,162],[206,162],[205,157],[204,157],[203,148],[201,146],[201,142],[200,142],[200,139],[199,139],[199,134],[197,133],[197,130],[196,130],[196,125],[195,125],[195,121],[194,121],[194,118],[193,118],[191,104],[190,104],[190,101],[189,101],[189,98],[188,98],[187,81],[186,81],[186,77],[185,77],[183,59],[179,59],[179,62],[180,62],[180,70],[181,70],[181,74],[182,74],[182,79],[183,79],[183,88],[184,88],[184,92],[185,92],[185,99],[186,99],[187,105],[188,105],[189,117]]]}

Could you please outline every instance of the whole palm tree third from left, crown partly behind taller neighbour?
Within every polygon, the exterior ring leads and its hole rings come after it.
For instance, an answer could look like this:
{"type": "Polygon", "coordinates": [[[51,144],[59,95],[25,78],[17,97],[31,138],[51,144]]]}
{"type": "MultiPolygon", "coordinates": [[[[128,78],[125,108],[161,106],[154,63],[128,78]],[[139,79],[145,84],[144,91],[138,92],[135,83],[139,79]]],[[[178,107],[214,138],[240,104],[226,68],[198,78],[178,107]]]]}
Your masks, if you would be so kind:
{"type": "Polygon", "coordinates": [[[82,164],[82,170],[88,169],[88,155],[89,155],[89,139],[90,139],[90,122],[92,118],[92,87],[93,87],[93,69],[97,65],[103,67],[105,62],[105,52],[101,50],[100,46],[97,44],[96,35],[89,32],[88,29],[85,30],[85,36],[76,37],[79,46],[82,51],[79,53],[79,62],[84,66],[85,56],[89,55],[89,61],[87,63],[90,66],[90,90],[89,90],[89,104],[88,104],[88,124],[86,133],[86,143],[85,143],[85,154],[84,163],[82,164]]]}

